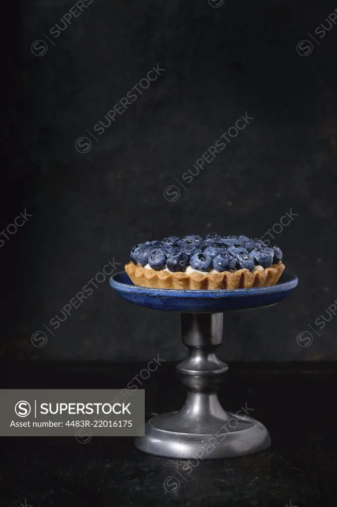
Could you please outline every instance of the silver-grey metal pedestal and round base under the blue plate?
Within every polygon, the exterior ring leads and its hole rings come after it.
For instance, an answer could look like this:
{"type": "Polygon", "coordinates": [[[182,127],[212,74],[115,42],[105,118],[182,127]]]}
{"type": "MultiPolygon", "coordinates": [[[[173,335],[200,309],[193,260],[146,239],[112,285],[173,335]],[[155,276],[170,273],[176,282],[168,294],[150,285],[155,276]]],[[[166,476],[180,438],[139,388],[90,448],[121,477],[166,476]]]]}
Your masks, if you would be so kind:
{"type": "Polygon", "coordinates": [[[269,447],[263,424],[226,412],[218,400],[217,389],[228,370],[215,354],[222,342],[223,313],[182,313],[181,325],[183,343],[190,351],[177,366],[187,386],[185,404],[179,412],[150,419],[136,447],[183,459],[241,456],[269,447]]]}

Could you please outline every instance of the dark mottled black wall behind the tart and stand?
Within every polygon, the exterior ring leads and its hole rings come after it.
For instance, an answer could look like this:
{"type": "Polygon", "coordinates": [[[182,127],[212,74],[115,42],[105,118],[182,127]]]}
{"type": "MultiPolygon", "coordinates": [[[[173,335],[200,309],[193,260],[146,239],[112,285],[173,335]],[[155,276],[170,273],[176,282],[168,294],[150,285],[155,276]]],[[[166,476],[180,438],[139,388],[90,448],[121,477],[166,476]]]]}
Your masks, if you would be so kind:
{"type": "Polygon", "coordinates": [[[8,7],[1,230],[25,208],[33,216],[0,248],[2,355],[178,360],[179,315],[132,306],[108,280],[57,330],[49,321],[109,261],[122,269],[136,243],[212,231],[260,237],[291,208],[298,216],[274,242],[299,286],[274,308],[227,314],[219,356],[337,359],[337,318],[315,325],[337,298],[337,25],[316,36],[320,45],[307,34],[328,27],[336,5],[94,0],[46,54],[32,54],[73,5],[8,7]],[[303,39],[313,43],[308,56],[297,52],[303,39]],[[157,81],[78,153],[76,139],[157,62],[157,81]],[[175,178],[245,112],[254,120],[177,201],[165,200],[164,189],[179,186],[175,178]],[[36,348],[30,337],[43,324],[55,337],[47,332],[36,348]],[[300,347],[306,330],[313,343],[300,347]]]}

